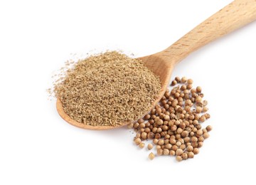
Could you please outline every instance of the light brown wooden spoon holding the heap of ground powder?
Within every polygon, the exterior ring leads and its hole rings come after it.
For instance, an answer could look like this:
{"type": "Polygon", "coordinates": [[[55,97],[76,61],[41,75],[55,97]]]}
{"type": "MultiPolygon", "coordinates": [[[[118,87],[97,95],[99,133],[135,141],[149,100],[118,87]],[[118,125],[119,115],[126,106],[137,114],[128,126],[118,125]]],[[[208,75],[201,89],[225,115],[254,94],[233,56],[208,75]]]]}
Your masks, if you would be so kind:
{"type": "MultiPolygon", "coordinates": [[[[171,73],[174,66],[188,54],[201,46],[210,43],[216,38],[220,38],[227,33],[234,31],[237,28],[244,26],[247,23],[255,21],[256,19],[256,0],[235,0],[225,6],[206,21],[193,28],[185,36],[180,38],[176,43],[166,48],[164,51],[155,53],[151,56],[144,56],[141,59],[146,66],[159,75],[161,79],[161,91],[159,99],[157,99],[152,106],[153,108],[164,95],[164,92],[169,85],[171,73]]],[[[57,110],[60,116],[71,125],[84,129],[113,129],[117,127],[110,126],[90,126],[72,120],[63,110],[60,100],[57,100],[57,110]]],[[[145,112],[146,114],[146,112],[145,112]]],[[[129,124],[124,122],[118,127],[129,124]]]]}

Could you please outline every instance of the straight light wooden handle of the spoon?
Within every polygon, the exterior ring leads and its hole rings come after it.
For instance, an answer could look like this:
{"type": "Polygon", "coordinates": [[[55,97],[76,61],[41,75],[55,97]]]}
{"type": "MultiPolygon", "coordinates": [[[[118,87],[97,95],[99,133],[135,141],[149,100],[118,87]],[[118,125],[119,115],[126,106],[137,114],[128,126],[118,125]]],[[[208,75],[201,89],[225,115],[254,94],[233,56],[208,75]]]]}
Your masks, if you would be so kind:
{"type": "Polygon", "coordinates": [[[178,63],[201,46],[238,29],[256,19],[256,0],[235,0],[206,21],[193,28],[166,50],[161,56],[178,63]]]}

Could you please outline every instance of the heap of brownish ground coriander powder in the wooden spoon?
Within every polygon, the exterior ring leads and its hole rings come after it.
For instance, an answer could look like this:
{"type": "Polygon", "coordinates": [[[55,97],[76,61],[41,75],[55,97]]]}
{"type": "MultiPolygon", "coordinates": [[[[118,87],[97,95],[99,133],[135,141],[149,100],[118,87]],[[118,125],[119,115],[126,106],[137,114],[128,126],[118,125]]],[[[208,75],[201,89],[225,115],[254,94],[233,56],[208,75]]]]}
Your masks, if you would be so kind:
{"type": "Polygon", "coordinates": [[[137,120],[160,90],[159,77],[141,60],[117,51],[78,60],[54,88],[65,113],[92,126],[137,120]]]}

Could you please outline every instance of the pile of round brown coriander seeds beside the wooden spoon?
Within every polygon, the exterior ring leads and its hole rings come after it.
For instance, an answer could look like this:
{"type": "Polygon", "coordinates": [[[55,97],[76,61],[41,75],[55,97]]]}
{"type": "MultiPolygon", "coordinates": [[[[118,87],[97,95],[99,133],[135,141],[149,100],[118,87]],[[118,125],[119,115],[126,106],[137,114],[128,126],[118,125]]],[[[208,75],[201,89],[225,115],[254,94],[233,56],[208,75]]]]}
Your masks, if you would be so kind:
{"type": "Polygon", "coordinates": [[[210,118],[206,100],[203,100],[202,88],[193,88],[193,80],[186,77],[171,82],[173,88],[166,90],[159,105],[156,105],[148,115],[136,123],[128,125],[137,132],[134,142],[147,149],[155,147],[156,152],[149,154],[149,159],[155,156],[176,156],[176,160],[193,158],[203,147],[203,142],[209,137],[210,125],[202,127],[202,123],[210,118]]]}

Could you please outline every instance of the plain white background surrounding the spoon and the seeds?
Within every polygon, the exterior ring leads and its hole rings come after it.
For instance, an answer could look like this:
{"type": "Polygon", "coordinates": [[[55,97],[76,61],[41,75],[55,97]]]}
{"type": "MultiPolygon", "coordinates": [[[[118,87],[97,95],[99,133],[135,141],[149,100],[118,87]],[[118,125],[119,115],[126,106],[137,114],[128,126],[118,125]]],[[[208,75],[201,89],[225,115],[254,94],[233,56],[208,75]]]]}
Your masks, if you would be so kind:
{"type": "Polygon", "coordinates": [[[230,0],[0,1],[0,184],[255,183],[256,22],[192,53],[174,76],[201,85],[213,125],[194,159],[147,158],[126,128],[68,125],[49,101],[70,53],[146,56],[170,46],[230,0]]]}

